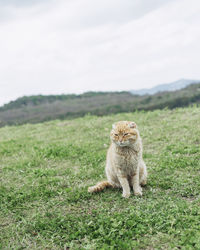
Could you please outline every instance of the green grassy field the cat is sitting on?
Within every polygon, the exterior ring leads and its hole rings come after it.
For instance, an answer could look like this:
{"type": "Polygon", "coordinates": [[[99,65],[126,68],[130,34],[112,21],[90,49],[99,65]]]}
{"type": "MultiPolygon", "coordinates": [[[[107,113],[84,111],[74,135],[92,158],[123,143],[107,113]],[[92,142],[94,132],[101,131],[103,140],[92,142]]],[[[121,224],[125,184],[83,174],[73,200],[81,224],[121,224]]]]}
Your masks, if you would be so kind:
{"type": "Polygon", "coordinates": [[[0,179],[0,249],[200,249],[200,108],[1,128],[0,179]],[[118,120],[143,139],[141,198],[87,192],[118,120]]]}

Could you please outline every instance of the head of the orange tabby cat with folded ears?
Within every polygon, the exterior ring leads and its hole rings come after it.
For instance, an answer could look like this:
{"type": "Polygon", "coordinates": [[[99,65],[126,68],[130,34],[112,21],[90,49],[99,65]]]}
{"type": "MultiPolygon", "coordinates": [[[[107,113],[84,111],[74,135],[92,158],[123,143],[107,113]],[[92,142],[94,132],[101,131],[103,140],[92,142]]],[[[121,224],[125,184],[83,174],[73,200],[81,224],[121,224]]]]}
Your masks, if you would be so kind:
{"type": "Polygon", "coordinates": [[[136,142],[138,135],[135,122],[120,121],[113,124],[110,138],[119,147],[129,147],[136,142]]]}

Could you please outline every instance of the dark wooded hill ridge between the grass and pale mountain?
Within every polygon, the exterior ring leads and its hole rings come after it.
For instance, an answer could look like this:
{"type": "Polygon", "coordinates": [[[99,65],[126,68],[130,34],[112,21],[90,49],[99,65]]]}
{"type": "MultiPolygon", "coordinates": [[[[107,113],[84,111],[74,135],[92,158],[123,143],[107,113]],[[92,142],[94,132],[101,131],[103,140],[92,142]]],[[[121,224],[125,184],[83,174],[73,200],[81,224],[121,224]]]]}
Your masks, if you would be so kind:
{"type": "Polygon", "coordinates": [[[130,92],[87,92],[82,95],[25,96],[0,107],[0,126],[108,115],[136,110],[170,109],[200,104],[200,83],[172,92],[133,95],[130,92]]]}

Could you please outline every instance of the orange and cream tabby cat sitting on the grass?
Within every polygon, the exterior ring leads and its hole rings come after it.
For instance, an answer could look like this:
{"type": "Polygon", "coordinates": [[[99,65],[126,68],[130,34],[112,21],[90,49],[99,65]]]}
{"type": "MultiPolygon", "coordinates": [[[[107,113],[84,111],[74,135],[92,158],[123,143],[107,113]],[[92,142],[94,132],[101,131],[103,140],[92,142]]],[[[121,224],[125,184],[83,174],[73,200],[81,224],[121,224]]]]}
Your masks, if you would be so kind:
{"type": "Polygon", "coordinates": [[[107,181],[89,187],[88,192],[100,192],[106,187],[122,187],[124,198],[142,196],[141,186],[147,183],[147,168],[142,158],[142,140],[135,122],[119,121],[112,126],[111,145],[106,158],[107,181]]]}

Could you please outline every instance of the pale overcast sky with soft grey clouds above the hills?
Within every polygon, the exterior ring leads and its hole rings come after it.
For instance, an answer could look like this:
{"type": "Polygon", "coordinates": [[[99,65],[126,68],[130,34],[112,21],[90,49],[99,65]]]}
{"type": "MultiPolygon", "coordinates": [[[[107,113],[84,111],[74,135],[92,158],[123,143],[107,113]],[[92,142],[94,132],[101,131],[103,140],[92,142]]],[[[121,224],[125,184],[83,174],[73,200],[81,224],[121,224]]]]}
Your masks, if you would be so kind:
{"type": "Polygon", "coordinates": [[[0,105],[200,80],[199,0],[0,0],[0,105]]]}

